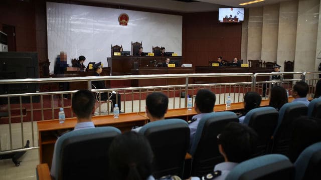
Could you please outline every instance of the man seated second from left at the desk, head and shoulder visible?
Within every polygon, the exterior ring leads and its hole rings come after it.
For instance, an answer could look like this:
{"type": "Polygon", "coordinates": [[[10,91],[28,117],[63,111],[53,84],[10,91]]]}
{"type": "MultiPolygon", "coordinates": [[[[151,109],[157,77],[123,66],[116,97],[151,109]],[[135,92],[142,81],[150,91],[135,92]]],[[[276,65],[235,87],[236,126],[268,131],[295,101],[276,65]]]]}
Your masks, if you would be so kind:
{"type": "MultiPolygon", "coordinates": [[[[146,115],[150,122],[165,119],[168,111],[169,98],[161,92],[153,92],[146,97],[146,115]]],[[[132,131],[139,132],[143,126],[133,127],[132,131]]]]}

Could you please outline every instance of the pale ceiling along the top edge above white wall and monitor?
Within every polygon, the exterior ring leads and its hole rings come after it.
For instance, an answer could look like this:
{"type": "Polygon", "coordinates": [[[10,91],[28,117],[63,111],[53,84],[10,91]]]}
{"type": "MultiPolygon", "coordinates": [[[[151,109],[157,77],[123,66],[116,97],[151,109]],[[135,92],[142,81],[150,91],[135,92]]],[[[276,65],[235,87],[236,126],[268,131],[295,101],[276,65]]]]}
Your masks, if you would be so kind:
{"type": "MultiPolygon", "coordinates": [[[[194,13],[194,12],[209,12],[218,11],[219,8],[227,7],[261,7],[263,5],[276,4],[283,1],[292,0],[265,0],[264,2],[255,3],[252,5],[239,6],[240,3],[245,3],[253,0],[198,0],[196,2],[184,2],[173,0],[78,0],[82,2],[113,4],[120,6],[130,6],[139,8],[156,9],[163,11],[173,11],[182,13],[194,13]]],[[[119,7],[121,8],[121,7],[119,7]]]]}

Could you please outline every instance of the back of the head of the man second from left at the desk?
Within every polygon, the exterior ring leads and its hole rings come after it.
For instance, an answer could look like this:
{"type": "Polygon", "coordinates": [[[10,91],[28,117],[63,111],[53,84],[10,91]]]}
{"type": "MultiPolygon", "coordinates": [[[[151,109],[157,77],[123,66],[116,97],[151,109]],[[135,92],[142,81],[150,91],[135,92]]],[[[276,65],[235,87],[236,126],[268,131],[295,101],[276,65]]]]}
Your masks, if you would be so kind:
{"type": "Polygon", "coordinates": [[[153,92],[146,97],[146,107],[152,117],[164,117],[169,107],[169,98],[161,92],[153,92]]]}

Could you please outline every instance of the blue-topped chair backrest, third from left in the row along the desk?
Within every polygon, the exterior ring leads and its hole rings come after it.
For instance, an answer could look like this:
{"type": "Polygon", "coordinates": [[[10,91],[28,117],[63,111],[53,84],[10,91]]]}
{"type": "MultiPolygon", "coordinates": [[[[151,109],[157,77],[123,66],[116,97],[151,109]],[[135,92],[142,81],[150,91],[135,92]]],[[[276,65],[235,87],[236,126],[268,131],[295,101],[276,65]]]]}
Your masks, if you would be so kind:
{"type": "Polygon", "coordinates": [[[219,152],[217,135],[229,122],[239,122],[234,112],[213,112],[200,119],[192,142],[192,176],[202,176],[211,171],[215,164],[223,162],[219,152]]]}

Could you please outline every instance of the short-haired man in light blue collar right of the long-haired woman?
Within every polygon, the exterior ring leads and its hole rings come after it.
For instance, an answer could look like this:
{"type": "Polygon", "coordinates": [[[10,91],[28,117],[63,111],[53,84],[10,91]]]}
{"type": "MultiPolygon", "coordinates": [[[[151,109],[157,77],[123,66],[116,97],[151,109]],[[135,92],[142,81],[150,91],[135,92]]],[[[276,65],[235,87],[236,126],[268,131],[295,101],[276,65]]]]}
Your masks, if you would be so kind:
{"type": "Polygon", "coordinates": [[[306,98],[308,91],[309,85],[307,85],[303,81],[297,81],[292,89],[292,97],[294,97],[294,100],[292,102],[301,102],[308,106],[310,103],[310,101],[308,101],[306,98]]]}

